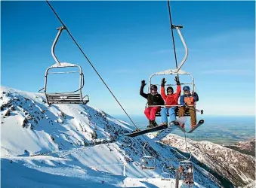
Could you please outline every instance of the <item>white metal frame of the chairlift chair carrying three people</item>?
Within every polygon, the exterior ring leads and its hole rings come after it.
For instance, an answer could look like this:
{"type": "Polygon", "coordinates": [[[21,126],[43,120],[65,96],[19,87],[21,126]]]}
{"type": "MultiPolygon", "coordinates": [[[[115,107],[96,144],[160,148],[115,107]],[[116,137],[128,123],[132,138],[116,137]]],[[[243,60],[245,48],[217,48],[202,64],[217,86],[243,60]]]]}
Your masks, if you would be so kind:
{"type": "MultiPolygon", "coordinates": [[[[187,71],[182,71],[180,68],[182,67],[182,65],[184,65],[184,62],[186,61],[187,59],[187,56],[188,56],[188,49],[187,49],[187,44],[186,42],[184,41],[184,38],[180,32],[180,29],[183,28],[183,26],[172,26],[173,29],[177,29],[177,33],[179,34],[180,36],[180,39],[182,41],[182,43],[184,44],[184,47],[185,47],[185,56],[184,56],[184,59],[182,59],[182,61],[180,62],[180,65],[178,68],[175,68],[175,69],[168,69],[168,70],[165,70],[165,71],[159,71],[159,72],[156,72],[155,74],[152,74],[150,76],[150,86],[152,86],[152,77],[156,76],[156,75],[171,75],[171,74],[187,74],[187,75],[190,75],[191,77],[191,82],[190,83],[180,83],[180,85],[192,85],[193,87],[193,91],[196,92],[196,85],[195,85],[195,81],[194,81],[194,77],[193,75],[191,75],[190,73],[188,73],[187,71]]],[[[160,86],[160,84],[155,84],[156,86],[160,86]]],[[[148,92],[150,92],[150,86],[148,87],[148,92]]],[[[165,86],[177,86],[176,84],[165,84],[165,86]]],[[[146,105],[146,108],[147,107],[153,107],[154,105],[146,105]]],[[[178,107],[180,107],[181,105],[177,105],[178,107]]],[[[161,108],[164,108],[165,105],[162,105],[161,108]]],[[[178,108],[176,109],[176,116],[178,117],[178,108]]],[[[199,111],[201,114],[203,114],[203,111],[201,110],[196,110],[196,111],[199,111]]],[[[169,114],[168,114],[169,116],[169,114]]],[[[185,113],[185,116],[188,116],[190,117],[190,113],[188,111],[186,111],[185,113]]],[[[156,113],[156,117],[161,117],[161,114],[160,112],[157,112],[156,113]]]]}

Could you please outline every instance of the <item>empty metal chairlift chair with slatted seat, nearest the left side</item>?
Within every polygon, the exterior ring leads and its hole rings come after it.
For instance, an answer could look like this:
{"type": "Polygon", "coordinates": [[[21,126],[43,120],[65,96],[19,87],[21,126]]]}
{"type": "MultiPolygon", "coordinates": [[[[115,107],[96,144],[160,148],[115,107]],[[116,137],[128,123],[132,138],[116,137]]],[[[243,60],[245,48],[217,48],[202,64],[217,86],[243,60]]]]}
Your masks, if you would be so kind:
{"type": "MultiPolygon", "coordinates": [[[[89,96],[88,95],[82,96],[82,88],[85,85],[85,80],[84,80],[84,74],[82,73],[81,66],[71,64],[68,62],[60,62],[54,53],[55,45],[57,44],[57,41],[58,41],[63,29],[66,29],[66,28],[64,26],[57,28],[58,33],[57,33],[57,36],[56,36],[54,43],[51,47],[51,55],[54,57],[54,60],[56,63],[46,69],[46,71],[45,71],[45,87],[43,87],[42,89],[44,89],[46,101],[49,105],[51,105],[51,104],[84,104],[84,105],[86,105],[89,102],[89,96]],[[57,68],[58,68],[58,70],[60,70],[61,68],[78,68],[79,71],[49,72],[51,69],[56,70],[57,68]],[[48,74],[70,74],[70,73],[79,73],[80,74],[79,89],[72,91],[72,92],[48,92],[48,90],[47,90],[48,74]]],[[[39,92],[41,92],[42,89],[40,89],[39,92]]]]}

